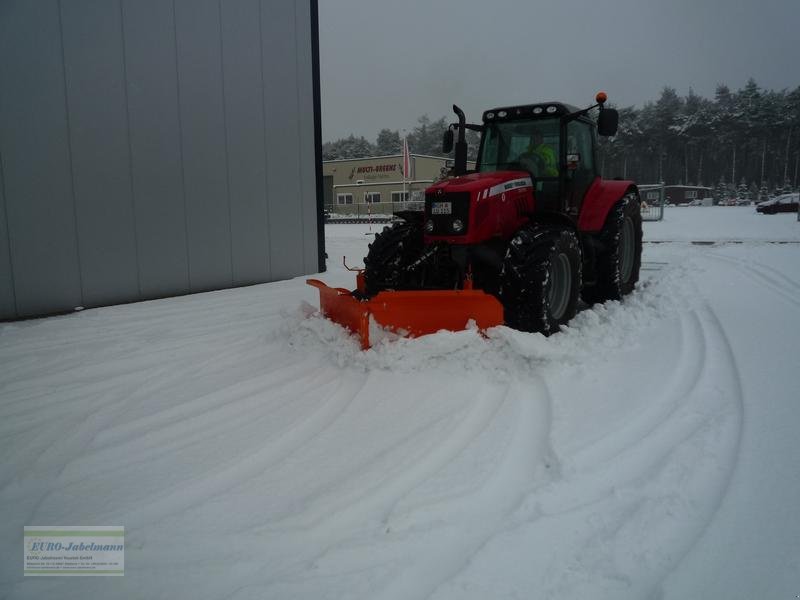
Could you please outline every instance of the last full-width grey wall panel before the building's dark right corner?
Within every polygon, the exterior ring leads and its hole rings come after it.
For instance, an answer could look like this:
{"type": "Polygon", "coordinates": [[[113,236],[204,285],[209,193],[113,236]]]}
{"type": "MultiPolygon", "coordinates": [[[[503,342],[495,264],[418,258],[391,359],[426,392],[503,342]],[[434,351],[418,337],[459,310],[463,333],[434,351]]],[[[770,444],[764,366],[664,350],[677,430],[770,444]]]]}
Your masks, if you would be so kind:
{"type": "MultiPolygon", "coordinates": [[[[267,140],[267,198],[272,276],[302,274],[304,228],[300,187],[295,2],[262,0],[261,40],[267,140]],[[292,93],[294,92],[294,93],[292,93]]],[[[310,115],[309,115],[310,117],[310,115]]]]}

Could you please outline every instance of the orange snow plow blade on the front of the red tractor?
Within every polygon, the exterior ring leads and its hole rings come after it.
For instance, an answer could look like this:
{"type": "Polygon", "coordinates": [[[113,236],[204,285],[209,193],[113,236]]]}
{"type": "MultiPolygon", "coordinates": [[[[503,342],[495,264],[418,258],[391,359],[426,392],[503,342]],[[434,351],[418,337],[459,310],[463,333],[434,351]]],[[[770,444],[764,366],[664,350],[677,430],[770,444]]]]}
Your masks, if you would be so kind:
{"type": "Polygon", "coordinates": [[[370,347],[370,317],[381,327],[407,337],[442,329],[461,331],[470,320],[479,329],[503,324],[503,306],[481,290],[388,291],[358,300],[352,292],[328,287],[318,279],[306,283],[319,289],[320,312],[358,334],[364,350],[370,347]]]}

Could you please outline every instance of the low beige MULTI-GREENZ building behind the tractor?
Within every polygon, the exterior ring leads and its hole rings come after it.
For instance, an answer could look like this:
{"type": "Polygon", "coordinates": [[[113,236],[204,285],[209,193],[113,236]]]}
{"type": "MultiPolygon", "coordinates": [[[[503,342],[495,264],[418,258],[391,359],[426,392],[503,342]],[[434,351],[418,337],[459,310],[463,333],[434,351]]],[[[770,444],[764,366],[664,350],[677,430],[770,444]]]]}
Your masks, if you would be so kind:
{"type": "MultiPolygon", "coordinates": [[[[403,177],[402,154],[324,161],[325,209],[332,215],[359,216],[421,210],[425,188],[443,179],[453,161],[411,154],[410,163],[409,176],[403,177]]],[[[474,169],[475,163],[468,163],[467,168],[474,169]]]]}

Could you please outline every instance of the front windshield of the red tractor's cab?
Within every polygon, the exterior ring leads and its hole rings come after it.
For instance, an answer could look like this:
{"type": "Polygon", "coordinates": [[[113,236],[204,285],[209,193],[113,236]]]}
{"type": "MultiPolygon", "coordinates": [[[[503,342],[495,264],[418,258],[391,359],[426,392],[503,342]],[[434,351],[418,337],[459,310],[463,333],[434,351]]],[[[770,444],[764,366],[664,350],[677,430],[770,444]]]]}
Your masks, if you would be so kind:
{"type": "Polygon", "coordinates": [[[487,123],[483,135],[479,171],[521,169],[537,178],[558,177],[558,118],[487,123]]]}

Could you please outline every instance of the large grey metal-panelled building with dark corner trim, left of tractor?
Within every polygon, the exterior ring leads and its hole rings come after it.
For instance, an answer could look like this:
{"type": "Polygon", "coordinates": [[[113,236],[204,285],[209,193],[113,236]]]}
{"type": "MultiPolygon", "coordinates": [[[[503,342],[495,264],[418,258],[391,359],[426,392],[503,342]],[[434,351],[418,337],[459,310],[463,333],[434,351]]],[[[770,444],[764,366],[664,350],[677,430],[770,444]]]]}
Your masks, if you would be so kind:
{"type": "Polygon", "coordinates": [[[0,319],[324,269],[316,0],[0,2],[0,319]]]}

